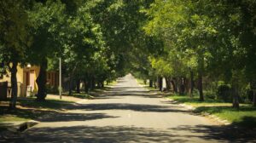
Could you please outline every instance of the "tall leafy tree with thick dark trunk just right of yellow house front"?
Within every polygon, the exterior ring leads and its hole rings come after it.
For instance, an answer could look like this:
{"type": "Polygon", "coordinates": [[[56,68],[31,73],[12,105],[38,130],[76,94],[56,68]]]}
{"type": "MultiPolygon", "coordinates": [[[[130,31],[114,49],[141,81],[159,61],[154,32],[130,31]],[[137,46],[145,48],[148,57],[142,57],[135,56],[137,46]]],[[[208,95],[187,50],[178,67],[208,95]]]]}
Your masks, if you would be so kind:
{"type": "Polygon", "coordinates": [[[28,60],[40,66],[36,82],[38,83],[37,100],[45,99],[47,59],[60,56],[63,51],[63,37],[65,31],[65,5],[61,1],[46,1],[33,3],[29,10],[29,21],[32,24],[31,34],[34,38],[32,49],[27,50],[28,60]]]}

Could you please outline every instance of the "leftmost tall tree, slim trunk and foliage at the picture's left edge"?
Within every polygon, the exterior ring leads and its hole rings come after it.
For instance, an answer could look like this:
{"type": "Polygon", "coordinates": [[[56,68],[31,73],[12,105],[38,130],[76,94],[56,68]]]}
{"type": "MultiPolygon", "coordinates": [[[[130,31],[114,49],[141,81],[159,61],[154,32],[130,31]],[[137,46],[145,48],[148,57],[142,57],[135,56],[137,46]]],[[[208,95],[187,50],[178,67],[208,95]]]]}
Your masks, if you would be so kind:
{"type": "Polygon", "coordinates": [[[25,51],[31,43],[28,35],[26,2],[3,0],[0,2],[0,63],[2,73],[11,73],[12,94],[9,104],[14,109],[17,100],[17,66],[24,61],[25,51]]]}

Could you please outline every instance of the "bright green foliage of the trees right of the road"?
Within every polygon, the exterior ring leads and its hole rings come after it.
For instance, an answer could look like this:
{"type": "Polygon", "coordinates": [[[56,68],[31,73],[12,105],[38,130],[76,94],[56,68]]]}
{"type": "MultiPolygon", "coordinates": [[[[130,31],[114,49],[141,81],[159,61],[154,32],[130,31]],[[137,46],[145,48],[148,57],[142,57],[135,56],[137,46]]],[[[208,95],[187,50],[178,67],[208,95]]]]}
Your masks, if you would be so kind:
{"type": "Polygon", "coordinates": [[[247,83],[255,78],[255,5],[247,0],[156,0],[149,9],[142,9],[148,16],[143,30],[148,36],[160,37],[167,53],[150,57],[156,73],[189,77],[189,72],[196,72],[198,79],[223,80],[244,96],[247,83]]]}

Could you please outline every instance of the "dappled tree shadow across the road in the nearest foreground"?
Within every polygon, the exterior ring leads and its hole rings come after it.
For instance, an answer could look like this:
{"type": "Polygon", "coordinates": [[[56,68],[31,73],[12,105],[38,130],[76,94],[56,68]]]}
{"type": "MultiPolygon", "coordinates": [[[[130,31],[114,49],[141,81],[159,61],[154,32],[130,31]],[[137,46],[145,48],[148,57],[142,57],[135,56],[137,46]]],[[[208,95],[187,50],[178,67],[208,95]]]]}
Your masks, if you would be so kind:
{"type": "Polygon", "coordinates": [[[166,130],[128,126],[73,126],[35,128],[13,142],[253,142],[253,135],[241,134],[234,128],[221,126],[178,126],[166,130]],[[50,134],[49,134],[50,133],[50,134]],[[25,140],[26,139],[26,140],[25,140]]]}

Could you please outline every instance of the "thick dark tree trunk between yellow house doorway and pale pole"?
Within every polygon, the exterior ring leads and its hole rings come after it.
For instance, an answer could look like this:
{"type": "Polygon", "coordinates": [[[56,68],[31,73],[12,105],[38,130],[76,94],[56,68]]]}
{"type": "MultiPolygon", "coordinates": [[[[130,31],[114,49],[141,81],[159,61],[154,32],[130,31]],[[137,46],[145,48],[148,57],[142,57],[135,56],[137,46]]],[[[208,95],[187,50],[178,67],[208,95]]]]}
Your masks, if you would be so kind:
{"type": "Polygon", "coordinates": [[[37,100],[38,101],[44,101],[46,98],[46,69],[47,69],[47,59],[44,58],[44,60],[41,61],[40,64],[40,72],[38,75],[38,78],[36,80],[37,84],[38,84],[38,94],[37,96],[37,100]]]}

